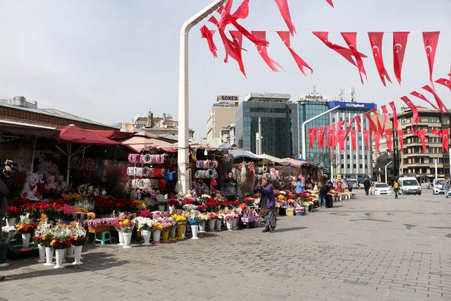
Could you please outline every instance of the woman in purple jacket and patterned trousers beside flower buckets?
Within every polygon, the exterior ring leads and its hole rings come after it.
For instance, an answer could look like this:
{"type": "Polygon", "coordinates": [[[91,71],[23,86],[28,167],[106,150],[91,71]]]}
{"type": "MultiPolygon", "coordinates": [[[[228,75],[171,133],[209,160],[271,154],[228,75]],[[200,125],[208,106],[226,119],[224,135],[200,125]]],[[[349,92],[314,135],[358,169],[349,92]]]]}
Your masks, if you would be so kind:
{"type": "Polygon", "coordinates": [[[269,180],[271,176],[265,174],[261,180],[261,185],[257,184],[255,188],[261,193],[260,197],[260,216],[264,217],[265,226],[263,232],[274,232],[276,229],[276,197],[274,197],[274,188],[269,180]]]}

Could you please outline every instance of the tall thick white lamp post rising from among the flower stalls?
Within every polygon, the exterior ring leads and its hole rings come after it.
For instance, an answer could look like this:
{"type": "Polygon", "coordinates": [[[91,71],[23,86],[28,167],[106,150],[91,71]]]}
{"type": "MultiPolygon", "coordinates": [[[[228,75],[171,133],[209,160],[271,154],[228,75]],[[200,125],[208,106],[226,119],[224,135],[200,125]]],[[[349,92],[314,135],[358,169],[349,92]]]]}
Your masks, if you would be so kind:
{"type": "Polygon", "coordinates": [[[190,184],[190,176],[188,167],[190,166],[189,154],[189,122],[188,122],[188,33],[191,28],[204,20],[211,13],[214,13],[221,7],[226,0],[215,0],[202,11],[188,19],[180,30],[180,65],[178,75],[178,183],[177,190],[179,192],[187,192],[190,184]]]}

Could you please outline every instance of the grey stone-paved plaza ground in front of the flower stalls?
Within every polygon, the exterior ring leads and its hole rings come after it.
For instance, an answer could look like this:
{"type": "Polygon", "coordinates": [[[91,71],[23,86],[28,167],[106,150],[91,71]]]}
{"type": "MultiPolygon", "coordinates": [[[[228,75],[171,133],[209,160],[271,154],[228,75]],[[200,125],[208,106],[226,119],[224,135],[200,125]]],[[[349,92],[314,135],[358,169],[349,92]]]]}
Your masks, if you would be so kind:
{"type": "Polygon", "coordinates": [[[88,245],[84,264],[0,269],[0,300],[451,300],[451,199],[366,197],[159,247],[88,245]]]}

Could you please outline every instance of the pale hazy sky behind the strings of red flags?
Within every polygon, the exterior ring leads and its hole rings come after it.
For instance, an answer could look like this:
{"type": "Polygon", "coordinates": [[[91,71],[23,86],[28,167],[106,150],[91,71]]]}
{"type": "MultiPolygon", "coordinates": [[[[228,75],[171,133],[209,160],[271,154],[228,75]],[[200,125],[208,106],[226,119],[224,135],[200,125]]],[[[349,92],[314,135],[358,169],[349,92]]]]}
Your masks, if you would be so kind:
{"type": "MultiPolygon", "coordinates": [[[[163,112],[177,118],[178,49],[181,25],[212,0],[0,0],[0,98],[25,96],[41,108],[55,108],[112,124],[135,116],[163,112]]],[[[268,54],[285,70],[273,72],[245,40],[247,78],[230,59],[223,63],[221,39],[214,39],[218,59],[209,52],[199,28],[190,32],[190,128],[194,137],[206,132],[206,120],[216,95],[249,92],[300,96],[316,90],[328,99],[355,88],[357,102],[388,104],[428,83],[429,73],[421,32],[439,30],[433,78],[450,73],[450,0],[289,0],[297,35],[292,48],[314,69],[304,76],[276,34],[288,30],[273,0],[250,0],[248,30],[266,30],[268,54]],[[311,31],[330,32],[330,41],[345,45],[340,32],[358,32],[357,49],[368,81],[361,84],[357,68],[326,47],[311,31]],[[386,32],[383,59],[393,84],[382,85],[373,61],[369,31],[386,32]],[[393,73],[393,31],[411,31],[404,56],[402,85],[393,73]]],[[[233,9],[241,3],[235,0],[233,9]]],[[[211,25],[208,25],[214,29],[211,25]]],[[[228,27],[233,30],[233,27],[228,27]]],[[[436,85],[445,104],[450,91],[436,85]]],[[[424,105],[412,97],[415,104],[424,105]]],[[[427,106],[427,105],[426,105],[427,106]]]]}

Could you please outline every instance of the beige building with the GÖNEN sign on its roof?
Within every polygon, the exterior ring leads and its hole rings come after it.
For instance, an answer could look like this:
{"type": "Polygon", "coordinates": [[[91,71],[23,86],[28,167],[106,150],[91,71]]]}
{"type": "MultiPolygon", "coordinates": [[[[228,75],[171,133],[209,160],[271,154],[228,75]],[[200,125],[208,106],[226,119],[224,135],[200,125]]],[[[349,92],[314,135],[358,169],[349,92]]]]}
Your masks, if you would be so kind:
{"type": "Polygon", "coordinates": [[[211,106],[209,118],[206,121],[206,140],[211,142],[214,138],[221,138],[221,130],[235,123],[235,112],[239,97],[218,95],[216,103],[211,106]]]}

